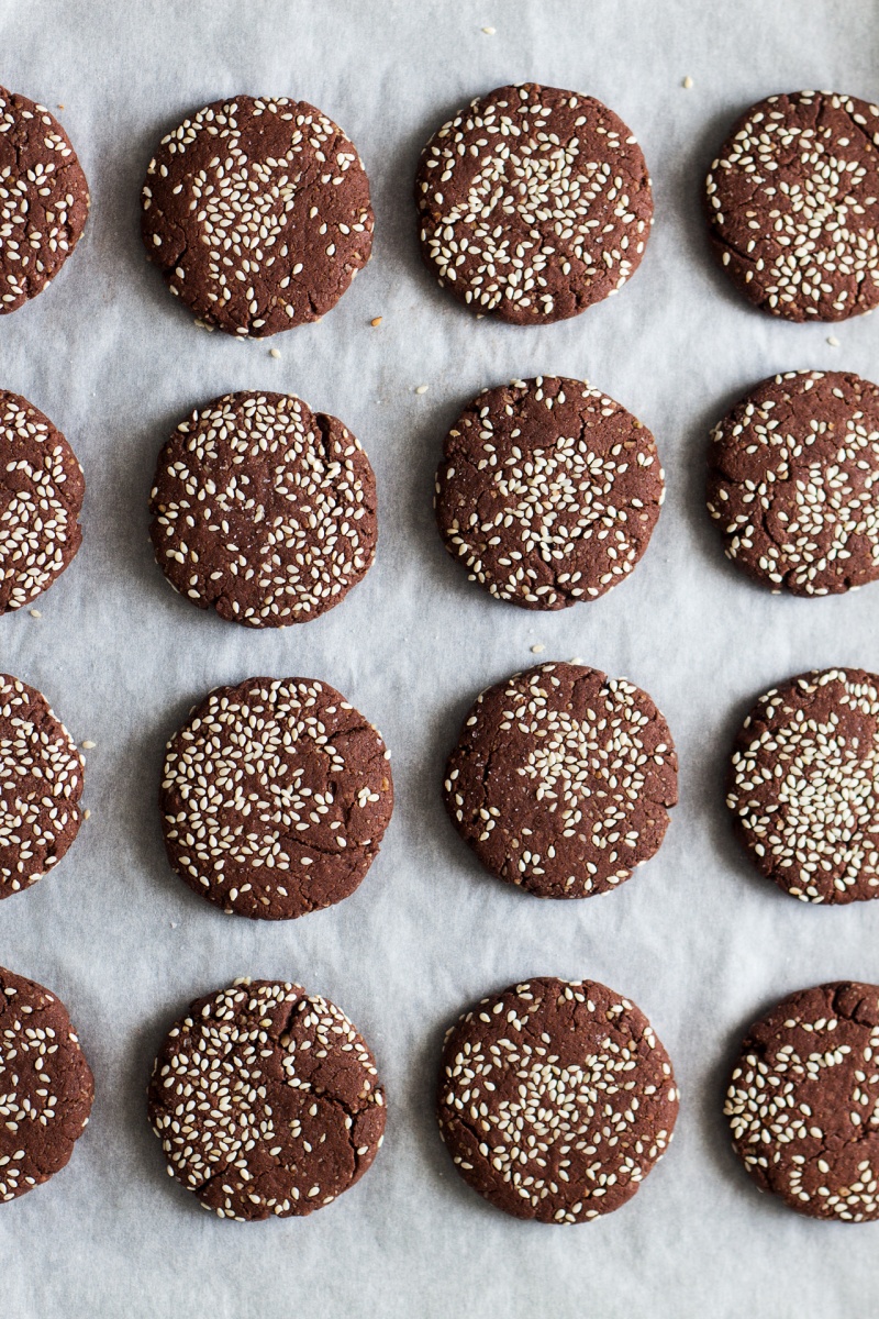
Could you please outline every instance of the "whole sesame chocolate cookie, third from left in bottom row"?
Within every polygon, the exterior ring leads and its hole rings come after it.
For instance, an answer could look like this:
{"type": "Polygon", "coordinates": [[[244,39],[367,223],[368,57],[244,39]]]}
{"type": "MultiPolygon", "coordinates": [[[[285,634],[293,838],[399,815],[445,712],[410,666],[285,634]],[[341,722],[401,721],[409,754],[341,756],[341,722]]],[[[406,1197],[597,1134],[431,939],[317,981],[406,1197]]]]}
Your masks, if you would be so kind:
{"type": "Polygon", "coordinates": [[[511,985],[445,1035],[440,1134],[464,1181],[517,1219],[618,1210],[667,1150],[677,1105],[643,1012],[592,980],[511,985]]]}

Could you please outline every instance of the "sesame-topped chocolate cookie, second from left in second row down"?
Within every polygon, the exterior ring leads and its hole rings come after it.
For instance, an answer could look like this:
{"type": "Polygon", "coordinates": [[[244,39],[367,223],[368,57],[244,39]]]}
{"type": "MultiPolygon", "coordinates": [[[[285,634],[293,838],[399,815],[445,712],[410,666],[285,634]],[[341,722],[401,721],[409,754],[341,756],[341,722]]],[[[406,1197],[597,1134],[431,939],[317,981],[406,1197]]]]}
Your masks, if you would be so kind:
{"type": "Polygon", "coordinates": [[[340,421],[289,394],[225,394],[181,422],[150,512],[174,590],[249,628],[316,619],[376,557],[369,459],[340,421]]]}

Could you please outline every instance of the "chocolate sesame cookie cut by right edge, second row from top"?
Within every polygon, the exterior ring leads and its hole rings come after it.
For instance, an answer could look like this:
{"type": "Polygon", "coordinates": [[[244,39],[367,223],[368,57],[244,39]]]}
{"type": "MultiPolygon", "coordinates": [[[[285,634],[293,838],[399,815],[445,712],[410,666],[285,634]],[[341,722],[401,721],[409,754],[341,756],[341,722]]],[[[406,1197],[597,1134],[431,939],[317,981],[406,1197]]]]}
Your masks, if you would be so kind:
{"type": "Polygon", "coordinates": [[[879,578],[879,388],[851,372],[764,380],[712,433],[708,510],[774,592],[879,578]]]}

